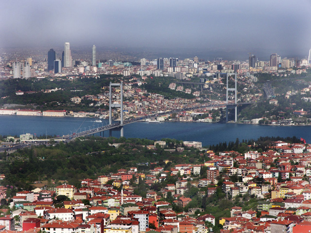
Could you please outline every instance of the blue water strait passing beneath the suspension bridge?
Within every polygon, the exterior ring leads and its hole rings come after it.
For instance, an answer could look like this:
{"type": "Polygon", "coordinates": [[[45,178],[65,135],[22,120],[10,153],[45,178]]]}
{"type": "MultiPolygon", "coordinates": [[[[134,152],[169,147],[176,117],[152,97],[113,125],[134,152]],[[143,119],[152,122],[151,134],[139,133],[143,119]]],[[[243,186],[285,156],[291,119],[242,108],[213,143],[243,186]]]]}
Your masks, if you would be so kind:
{"type": "MultiPolygon", "coordinates": [[[[46,117],[46,116],[0,116],[0,134],[18,136],[23,133],[43,135],[66,135],[104,126],[95,122],[95,118],[78,117],[46,117]]],[[[183,141],[200,141],[203,146],[215,145],[219,142],[235,141],[236,138],[257,139],[260,136],[297,136],[311,143],[311,126],[265,126],[250,124],[220,124],[196,122],[138,122],[124,126],[124,137],[138,137],[153,140],[175,138],[183,141]]],[[[95,135],[100,136],[100,133],[95,135]]],[[[103,136],[103,133],[101,133],[103,136]]],[[[109,136],[108,131],[104,136],[109,136]]],[[[112,136],[120,137],[120,131],[112,132],[112,136]]]]}

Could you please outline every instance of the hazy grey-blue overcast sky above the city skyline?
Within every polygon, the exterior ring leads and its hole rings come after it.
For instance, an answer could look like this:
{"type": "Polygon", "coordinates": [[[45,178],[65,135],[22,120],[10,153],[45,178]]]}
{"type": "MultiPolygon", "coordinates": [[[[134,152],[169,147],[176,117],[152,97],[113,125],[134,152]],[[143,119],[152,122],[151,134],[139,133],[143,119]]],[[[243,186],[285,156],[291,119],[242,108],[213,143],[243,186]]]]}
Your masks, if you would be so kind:
{"type": "Polygon", "coordinates": [[[0,47],[311,47],[311,0],[1,0],[0,47]]]}

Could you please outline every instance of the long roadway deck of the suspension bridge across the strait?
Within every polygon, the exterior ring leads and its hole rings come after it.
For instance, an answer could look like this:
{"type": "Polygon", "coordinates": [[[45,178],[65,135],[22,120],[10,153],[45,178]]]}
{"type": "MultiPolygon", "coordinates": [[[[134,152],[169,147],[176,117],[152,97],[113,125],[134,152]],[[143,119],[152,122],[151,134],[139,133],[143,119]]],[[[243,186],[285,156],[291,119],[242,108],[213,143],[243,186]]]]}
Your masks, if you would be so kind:
{"type": "MultiPolygon", "coordinates": [[[[251,102],[237,103],[237,105],[245,105],[245,104],[251,104],[251,102]]],[[[84,131],[84,132],[81,132],[81,133],[76,133],[76,134],[72,134],[72,135],[65,135],[63,137],[57,137],[57,138],[52,138],[52,139],[65,139],[65,141],[71,141],[72,139],[74,139],[76,137],[87,136],[87,135],[91,135],[91,134],[94,134],[94,133],[100,133],[100,132],[104,132],[104,131],[107,131],[107,130],[116,129],[116,128],[119,128],[121,126],[132,124],[132,123],[139,122],[139,121],[143,121],[145,119],[152,118],[152,117],[164,116],[164,115],[168,115],[168,114],[180,113],[180,112],[183,112],[183,111],[190,111],[190,110],[195,110],[195,109],[200,109],[200,108],[221,107],[221,106],[235,106],[235,105],[236,104],[234,104],[234,103],[230,103],[230,104],[204,104],[204,105],[200,105],[200,106],[197,106],[197,107],[181,108],[181,109],[176,109],[176,110],[173,110],[173,111],[167,111],[167,112],[163,112],[163,113],[157,113],[157,114],[152,114],[152,115],[148,115],[148,116],[142,116],[142,117],[138,117],[138,118],[134,118],[134,119],[124,120],[123,125],[121,125],[120,123],[114,123],[114,124],[111,124],[111,125],[106,125],[106,126],[103,126],[103,127],[92,129],[92,130],[87,130],[87,131],[84,131]]]]}

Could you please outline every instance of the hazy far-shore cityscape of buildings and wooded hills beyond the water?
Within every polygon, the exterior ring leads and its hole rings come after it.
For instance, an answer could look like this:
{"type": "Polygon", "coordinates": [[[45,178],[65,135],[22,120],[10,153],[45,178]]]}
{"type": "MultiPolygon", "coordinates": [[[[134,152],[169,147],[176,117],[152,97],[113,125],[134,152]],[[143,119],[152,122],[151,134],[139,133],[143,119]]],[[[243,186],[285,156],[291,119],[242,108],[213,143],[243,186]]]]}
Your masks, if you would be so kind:
{"type": "MultiPolygon", "coordinates": [[[[270,61],[252,62],[251,57],[249,61],[222,58],[209,61],[196,56],[142,58],[133,64],[103,59],[90,64],[79,58],[56,73],[49,68],[51,61],[42,57],[15,60],[5,54],[0,61],[3,85],[0,115],[107,118],[109,83],[122,82],[124,119],[192,106],[196,110],[157,116],[155,120],[222,122],[227,102],[237,101],[252,103],[239,110],[240,123],[310,124],[311,82],[307,59],[281,59],[280,55],[272,54],[270,61]],[[14,75],[13,67],[22,63],[31,67],[30,77],[14,75]],[[234,84],[234,73],[237,95],[227,92],[226,101],[226,89],[234,84]],[[229,74],[228,82],[226,74],[229,74]],[[203,107],[203,103],[218,106],[203,107]]],[[[119,87],[113,89],[113,104],[120,104],[120,92],[119,87]]],[[[113,111],[113,118],[119,119],[120,110],[113,108],[113,111]]]]}

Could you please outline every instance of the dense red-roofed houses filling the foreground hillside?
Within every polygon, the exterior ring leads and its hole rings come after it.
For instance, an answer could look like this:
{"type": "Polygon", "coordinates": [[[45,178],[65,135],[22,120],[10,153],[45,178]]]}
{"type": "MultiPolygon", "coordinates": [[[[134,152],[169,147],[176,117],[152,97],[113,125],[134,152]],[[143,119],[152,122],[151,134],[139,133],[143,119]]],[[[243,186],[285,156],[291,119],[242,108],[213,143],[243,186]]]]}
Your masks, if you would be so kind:
{"type": "MultiPolygon", "coordinates": [[[[311,147],[308,144],[274,141],[266,151],[239,153],[214,152],[202,146],[195,149],[195,142],[188,143],[183,144],[183,150],[180,146],[176,148],[176,152],[198,150],[203,163],[176,164],[167,159],[163,161],[165,166],[154,163],[143,171],[138,164],[99,175],[97,179],[85,177],[77,186],[64,181],[54,187],[44,185],[19,191],[12,197],[7,196],[10,187],[0,186],[1,207],[7,206],[0,209],[0,232],[309,231],[311,147]],[[215,217],[208,213],[211,209],[207,208],[207,201],[213,205],[216,202],[212,199],[217,197],[221,199],[218,205],[227,203],[227,206],[223,207],[223,215],[216,213],[215,217]]],[[[168,145],[155,141],[154,146],[148,146],[147,150],[164,151],[168,145]]],[[[6,174],[2,174],[1,182],[5,179],[6,174]]]]}

